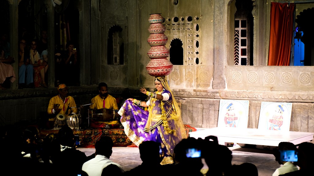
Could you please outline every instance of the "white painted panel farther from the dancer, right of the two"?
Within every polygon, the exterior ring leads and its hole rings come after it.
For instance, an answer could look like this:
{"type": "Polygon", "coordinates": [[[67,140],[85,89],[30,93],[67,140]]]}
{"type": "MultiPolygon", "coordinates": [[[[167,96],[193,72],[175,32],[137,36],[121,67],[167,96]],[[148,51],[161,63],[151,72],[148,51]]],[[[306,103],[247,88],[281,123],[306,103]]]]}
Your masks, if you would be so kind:
{"type": "Polygon", "coordinates": [[[263,101],[258,129],[290,131],[291,111],[292,103],[263,101]]]}

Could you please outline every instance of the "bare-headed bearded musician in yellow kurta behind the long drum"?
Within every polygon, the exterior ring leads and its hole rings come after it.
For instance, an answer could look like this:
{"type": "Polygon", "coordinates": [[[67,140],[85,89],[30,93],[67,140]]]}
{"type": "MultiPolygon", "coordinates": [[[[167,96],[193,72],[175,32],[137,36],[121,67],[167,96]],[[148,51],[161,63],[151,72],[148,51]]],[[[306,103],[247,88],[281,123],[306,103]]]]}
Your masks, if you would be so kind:
{"type": "MultiPolygon", "coordinates": [[[[106,83],[101,82],[98,85],[98,91],[99,95],[95,96],[91,100],[91,104],[89,108],[91,110],[95,109],[111,109],[111,111],[118,112],[118,105],[116,102],[116,99],[108,94],[108,86],[106,83]]],[[[110,121],[110,122],[101,122],[97,119],[91,119],[91,127],[94,128],[101,128],[101,127],[107,127],[110,128],[112,126],[119,125],[118,120],[110,121]]]]}

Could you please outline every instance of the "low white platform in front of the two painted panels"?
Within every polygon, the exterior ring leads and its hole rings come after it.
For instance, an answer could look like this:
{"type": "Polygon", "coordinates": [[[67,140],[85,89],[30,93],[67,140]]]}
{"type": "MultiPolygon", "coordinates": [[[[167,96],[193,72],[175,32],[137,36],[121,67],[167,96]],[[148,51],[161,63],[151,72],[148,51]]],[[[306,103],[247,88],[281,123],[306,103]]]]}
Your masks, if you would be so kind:
{"type": "Polygon", "coordinates": [[[267,146],[278,146],[280,142],[291,142],[297,145],[313,140],[314,135],[312,132],[284,132],[232,127],[207,128],[196,132],[189,132],[189,134],[190,137],[196,139],[199,137],[204,139],[206,136],[216,136],[221,145],[225,145],[225,142],[234,142],[267,146]]]}

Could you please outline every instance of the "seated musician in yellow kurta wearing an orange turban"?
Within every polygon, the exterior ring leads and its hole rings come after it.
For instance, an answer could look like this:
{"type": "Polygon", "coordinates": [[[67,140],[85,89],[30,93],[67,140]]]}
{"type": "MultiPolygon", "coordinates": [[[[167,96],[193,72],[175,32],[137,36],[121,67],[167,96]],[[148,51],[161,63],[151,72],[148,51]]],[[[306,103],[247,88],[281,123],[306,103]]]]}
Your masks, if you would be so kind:
{"type": "MultiPolygon", "coordinates": [[[[78,110],[76,108],[75,101],[72,96],[68,96],[68,87],[65,84],[60,84],[57,87],[59,94],[50,99],[47,112],[48,114],[62,114],[63,116],[75,115],[78,110]],[[71,108],[74,107],[74,108],[71,108]]],[[[49,121],[54,121],[54,118],[50,118],[49,121]]]]}

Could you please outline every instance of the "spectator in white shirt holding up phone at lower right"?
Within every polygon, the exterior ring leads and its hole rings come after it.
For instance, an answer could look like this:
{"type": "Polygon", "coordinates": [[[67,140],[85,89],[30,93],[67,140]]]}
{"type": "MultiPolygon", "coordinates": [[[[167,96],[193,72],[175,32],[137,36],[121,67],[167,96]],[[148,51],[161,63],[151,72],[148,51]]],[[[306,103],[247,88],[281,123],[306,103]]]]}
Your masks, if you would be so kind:
{"type": "Polygon", "coordinates": [[[283,164],[280,166],[280,168],[277,168],[275,172],[273,173],[273,176],[278,176],[281,174],[293,172],[296,170],[299,170],[298,167],[295,166],[293,162],[290,161],[282,161],[282,158],[280,157],[280,151],[283,150],[296,150],[296,146],[291,142],[280,142],[278,145],[278,149],[274,150],[274,156],[276,161],[278,161],[279,164],[283,164]]]}

